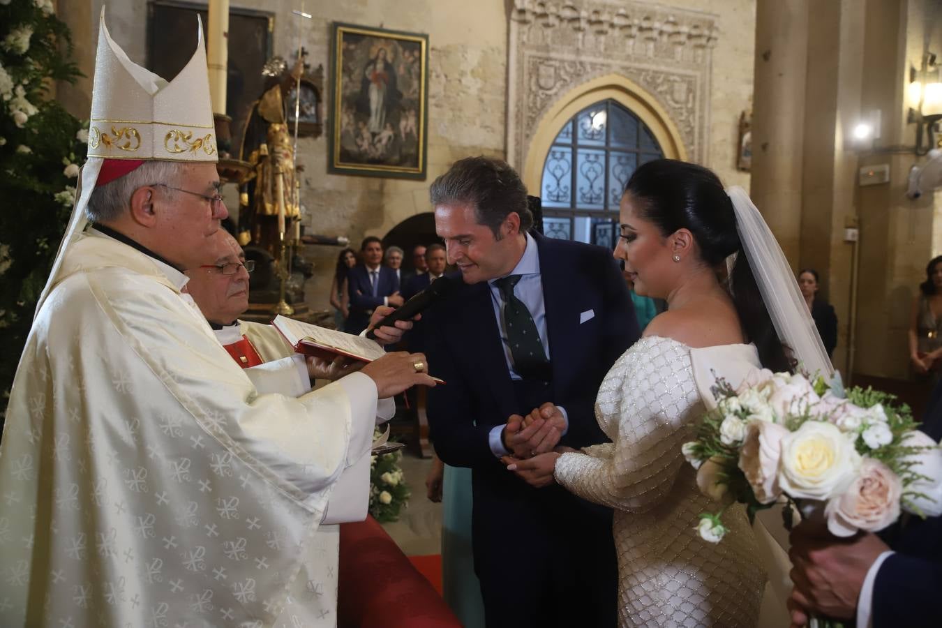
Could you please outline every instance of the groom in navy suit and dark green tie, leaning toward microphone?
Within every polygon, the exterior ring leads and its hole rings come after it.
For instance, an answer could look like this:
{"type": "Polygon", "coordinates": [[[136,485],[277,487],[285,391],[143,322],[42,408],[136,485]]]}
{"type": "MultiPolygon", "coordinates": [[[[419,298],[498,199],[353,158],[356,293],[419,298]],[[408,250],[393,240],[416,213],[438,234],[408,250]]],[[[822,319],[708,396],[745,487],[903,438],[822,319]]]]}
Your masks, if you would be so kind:
{"type": "Polygon", "coordinates": [[[572,447],[606,441],[595,394],[639,336],[625,282],[611,251],[528,233],[526,187],[501,161],[457,162],[430,197],[463,279],[424,314],[431,371],[447,381],[429,392],[430,433],[441,459],[473,470],[487,625],[614,626],[611,511],[559,486],[532,489],[500,457],[560,434],[572,447]],[[544,405],[561,409],[561,423],[508,424],[544,405]]]}

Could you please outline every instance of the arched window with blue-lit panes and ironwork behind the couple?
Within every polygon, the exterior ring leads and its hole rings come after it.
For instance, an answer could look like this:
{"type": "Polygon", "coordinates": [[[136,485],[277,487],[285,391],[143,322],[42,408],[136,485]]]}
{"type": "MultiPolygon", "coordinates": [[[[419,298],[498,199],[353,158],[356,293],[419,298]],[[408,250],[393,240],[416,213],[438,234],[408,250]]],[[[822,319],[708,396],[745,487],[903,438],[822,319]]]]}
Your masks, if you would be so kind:
{"type": "Polygon", "coordinates": [[[638,166],[662,156],[654,134],[625,106],[608,99],[582,109],[546,155],[544,233],[613,249],[625,184],[638,166]]]}

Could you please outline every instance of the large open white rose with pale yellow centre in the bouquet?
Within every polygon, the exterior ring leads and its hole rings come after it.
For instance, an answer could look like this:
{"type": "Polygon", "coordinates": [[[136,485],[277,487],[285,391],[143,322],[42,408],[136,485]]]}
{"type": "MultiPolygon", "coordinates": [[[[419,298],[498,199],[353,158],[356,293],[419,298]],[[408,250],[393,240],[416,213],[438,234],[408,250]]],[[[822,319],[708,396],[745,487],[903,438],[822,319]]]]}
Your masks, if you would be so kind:
{"type": "Polygon", "coordinates": [[[782,439],[778,481],[793,499],[826,500],[847,488],[859,466],[853,442],[836,426],[805,421],[782,439]]]}

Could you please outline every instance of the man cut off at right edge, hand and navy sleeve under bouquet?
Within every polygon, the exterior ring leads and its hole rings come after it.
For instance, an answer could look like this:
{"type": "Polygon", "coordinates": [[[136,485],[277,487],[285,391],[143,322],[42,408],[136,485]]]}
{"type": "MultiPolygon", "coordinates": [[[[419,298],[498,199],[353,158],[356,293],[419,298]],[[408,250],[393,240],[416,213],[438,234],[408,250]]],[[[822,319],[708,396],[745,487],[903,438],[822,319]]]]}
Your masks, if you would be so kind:
{"type": "MultiPolygon", "coordinates": [[[[935,387],[922,431],[942,438],[942,384],[935,387]]],[[[938,454],[942,456],[942,453],[938,454]]],[[[937,626],[942,591],[942,517],[903,515],[875,534],[820,537],[799,525],[788,552],[795,583],[788,607],[792,623],[814,614],[856,620],[858,628],[937,626]]]]}

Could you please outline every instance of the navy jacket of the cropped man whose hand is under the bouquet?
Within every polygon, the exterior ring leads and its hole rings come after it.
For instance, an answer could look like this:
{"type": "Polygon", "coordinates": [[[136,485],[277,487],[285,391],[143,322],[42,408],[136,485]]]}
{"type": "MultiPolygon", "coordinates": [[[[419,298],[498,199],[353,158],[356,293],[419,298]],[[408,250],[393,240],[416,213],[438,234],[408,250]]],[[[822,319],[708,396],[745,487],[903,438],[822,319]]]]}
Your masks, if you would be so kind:
{"type": "MultiPolygon", "coordinates": [[[[936,442],[942,438],[942,383],[935,387],[921,429],[936,442]]],[[[942,624],[935,606],[935,596],[942,591],[942,517],[913,517],[885,539],[896,554],[877,572],[873,628],[942,624]]]]}

